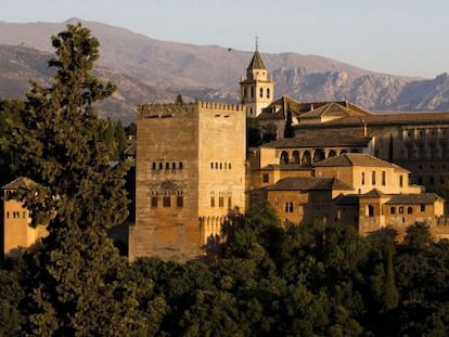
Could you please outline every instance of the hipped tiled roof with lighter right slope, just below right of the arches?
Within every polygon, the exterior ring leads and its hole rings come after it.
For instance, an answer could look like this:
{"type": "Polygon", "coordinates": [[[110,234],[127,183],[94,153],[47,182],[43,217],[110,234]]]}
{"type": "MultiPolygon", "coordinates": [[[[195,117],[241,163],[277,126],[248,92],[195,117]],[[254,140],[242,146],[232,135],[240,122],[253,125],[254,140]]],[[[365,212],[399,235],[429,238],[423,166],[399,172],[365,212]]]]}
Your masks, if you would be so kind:
{"type": "Polygon", "coordinates": [[[408,172],[406,169],[382,160],[380,158],[367,155],[367,154],[360,154],[360,153],[345,153],[341,156],[332,157],[329,159],[324,159],[322,161],[319,161],[315,164],[316,167],[335,167],[335,166],[369,166],[369,167],[390,167],[398,170],[402,170],[405,172],[408,172]]]}

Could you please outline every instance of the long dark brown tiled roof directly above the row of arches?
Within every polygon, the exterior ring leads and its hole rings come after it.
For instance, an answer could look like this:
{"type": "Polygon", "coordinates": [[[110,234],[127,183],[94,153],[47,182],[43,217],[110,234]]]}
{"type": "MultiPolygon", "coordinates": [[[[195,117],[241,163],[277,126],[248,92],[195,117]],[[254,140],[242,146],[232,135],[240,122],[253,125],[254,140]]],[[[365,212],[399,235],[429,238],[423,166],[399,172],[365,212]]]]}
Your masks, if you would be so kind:
{"type": "Polygon", "coordinates": [[[262,145],[271,148],[293,147],[330,147],[330,146],[362,146],[365,147],[371,138],[348,134],[346,130],[302,130],[296,132],[294,138],[275,140],[262,145]]]}

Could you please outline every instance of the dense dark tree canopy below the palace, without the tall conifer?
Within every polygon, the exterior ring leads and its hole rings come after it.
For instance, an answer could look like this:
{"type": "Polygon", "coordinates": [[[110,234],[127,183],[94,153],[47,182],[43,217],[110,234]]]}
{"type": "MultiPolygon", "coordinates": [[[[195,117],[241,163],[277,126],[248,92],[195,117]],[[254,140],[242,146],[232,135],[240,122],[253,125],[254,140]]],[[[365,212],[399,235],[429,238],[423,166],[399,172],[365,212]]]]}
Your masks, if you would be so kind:
{"type": "MultiPolygon", "coordinates": [[[[262,207],[234,218],[226,231],[227,241],[210,247],[204,260],[144,258],[114,268],[108,278],[119,291],[116,306],[133,302],[127,334],[449,334],[449,243],[432,242],[423,224],[395,244],[390,233],[361,237],[343,224],[281,228],[273,211],[262,207]]],[[[42,282],[34,255],[2,263],[2,336],[33,332],[30,283],[42,282]]],[[[110,306],[102,301],[97,310],[110,312],[110,306]]],[[[85,308],[77,310],[82,315],[85,308]]],[[[79,326],[73,328],[77,335],[79,326]]],[[[90,332],[108,335],[100,325],[90,332]]]]}

